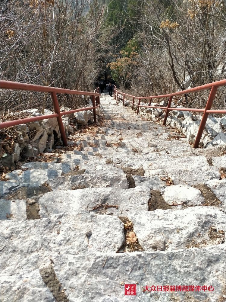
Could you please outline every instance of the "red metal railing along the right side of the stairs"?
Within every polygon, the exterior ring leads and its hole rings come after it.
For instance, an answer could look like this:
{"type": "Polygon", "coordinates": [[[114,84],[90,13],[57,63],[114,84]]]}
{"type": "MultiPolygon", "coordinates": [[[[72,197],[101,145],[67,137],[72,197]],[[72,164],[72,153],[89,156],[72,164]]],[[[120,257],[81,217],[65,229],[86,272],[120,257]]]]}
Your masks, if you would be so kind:
{"type": "Polygon", "coordinates": [[[164,121],[163,121],[163,125],[166,124],[166,120],[167,120],[169,111],[172,111],[172,110],[175,110],[175,111],[203,112],[202,120],[201,120],[201,123],[199,125],[199,130],[198,130],[198,133],[196,135],[196,140],[195,140],[195,143],[194,143],[194,148],[197,148],[199,146],[199,142],[201,140],[202,133],[203,133],[203,130],[204,130],[205,126],[206,126],[206,121],[207,121],[207,118],[208,118],[209,114],[210,113],[226,114],[226,110],[211,109],[212,104],[213,104],[213,100],[215,98],[215,95],[216,95],[218,87],[224,86],[224,85],[226,85],[226,79],[225,80],[221,80],[221,81],[217,81],[217,82],[213,82],[213,83],[209,83],[209,84],[206,84],[206,85],[190,88],[190,89],[187,89],[187,90],[183,90],[183,91],[179,91],[179,92],[174,92],[174,93],[167,94],[167,95],[154,95],[154,96],[148,96],[148,97],[137,97],[137,96],[134,96],[134,95],[129,95],[127,93],[120,92],[115,87],[114,98],[116,100],[116,103],[118,103],[118,95],[119,95],[119,93],[122,94],[123,95],[123,99],[122,99],[123,100],[123,105],[124,105],[124,101],[125,101],[125,96],[129,96],[129,97],[133,98],[133,101],[129,101],[129,100],[127,100],[127,101],[132,104],[132,110],[134,108],[134,105],[137,106],[137,114],[139,114],[139,108],[140,107],[156,108],[156,109],[166,110],[165,118],[164,118],[164,121]],[[211,91],[210,91],[209,98],[208,98],[207,103],[206,103],[206,107],[204,109],[199,109],[199,108],[172,108],[172,107],[170,107],[172,99],[173,99],[173,97],[175,95],[183,95],[183,94],[188,94],[190,92],[196,92],[196,91],[206,90],[206,89],[211,89],[211,91]],[[151,105],[151,101],[154,98],[169,98],[168,99],[168,106],[167,107],[150,106],[151,105]],[[138,103],[137,104],[135,103],[135,99],[138,99],[138,103]],[[146,99],[146,100],[150,99],[149,106],[140,105],[140,101],[142,99],[146,99]]]}

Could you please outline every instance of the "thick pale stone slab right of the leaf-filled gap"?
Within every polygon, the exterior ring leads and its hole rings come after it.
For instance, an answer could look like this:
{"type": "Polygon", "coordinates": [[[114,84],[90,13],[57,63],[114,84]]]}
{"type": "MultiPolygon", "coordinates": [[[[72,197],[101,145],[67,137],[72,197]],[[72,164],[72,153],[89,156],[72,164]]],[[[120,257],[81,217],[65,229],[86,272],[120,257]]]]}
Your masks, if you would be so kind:
{"type": "Polygon", "coordinates": [[[129,214],[145,251],[202,248],[224,243],[226,214],[213,207],[129,214]]]}

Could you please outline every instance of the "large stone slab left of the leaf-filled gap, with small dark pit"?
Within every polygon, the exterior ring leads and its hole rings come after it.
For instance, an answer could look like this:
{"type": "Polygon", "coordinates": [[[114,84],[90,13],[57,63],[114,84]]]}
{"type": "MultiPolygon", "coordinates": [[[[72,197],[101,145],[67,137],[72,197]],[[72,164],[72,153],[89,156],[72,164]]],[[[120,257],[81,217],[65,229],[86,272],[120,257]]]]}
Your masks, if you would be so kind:
{"type": "Polygon", "coordinates": [[[51,254],[116,253],[124,240],[124,225],[118,217],[87,211],[19,223],[1,220],[0,271],[15,275],[25,266],[32,271],[51,254]]]}

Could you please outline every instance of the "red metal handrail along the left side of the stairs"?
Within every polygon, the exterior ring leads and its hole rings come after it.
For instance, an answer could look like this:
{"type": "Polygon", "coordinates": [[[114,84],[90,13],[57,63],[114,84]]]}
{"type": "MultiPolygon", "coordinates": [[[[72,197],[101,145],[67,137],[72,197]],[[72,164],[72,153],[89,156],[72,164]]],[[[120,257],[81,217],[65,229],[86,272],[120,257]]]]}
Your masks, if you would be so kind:
{"type": "Polygon", "coordinates": [[[33,84],[25,84],[25,83],[18,83],[18,82],[10,82],[10,81],[2,81],[0,80],[0,88],[2,89],[11,89],[11,90],[28,90],[28,91],[37,91],[37,92],[50,92],[52,101],[53,101],[53,106],[55,109],[55,114],[46,114],[42,116],[36,116],[36,117],[27,117],[23,119],[18,119],[18,120],[9,120],[3,123],[0,123],[0,129],[6,128],[6,127],[11,127],[11,126],[16,126],[16,125],[21,125],[25,123],[30,123],[36,120],[46,120],[48,118],[57,118],[59,130],[61,133],[61,139],[64,144],[64,146],[67,145],[67,137],[64,132],[64,125],[62,122],[62,115],[68,115],[74,112],[80,112],[80,111],[87,111],[87,110],[92,110],[93,109],[93,119],[94,122],[96,123],[96,108],[99,107],[100,102],[98,103],[100,94],[95,93],[95,92],[85,92],[85,91],[77,91],[77,90],[71,90],[71,89],[63,89],[63,88],[57,88],[57,87],[49,87],[49,86],[41,86],[41,85],[33,85],[33,84]],[[86,107],[86,108],[79,108],[75,110],[70,110],[70,111],[63,111],[60,112],[58,100],[57,100],[57,93],[64,93],[64,94],[71,94],[71,95],[90,95],[92,97],[92,103],[93,107],[86,107]],[[95,104],[96,101],[96,104],[95,104]]]}

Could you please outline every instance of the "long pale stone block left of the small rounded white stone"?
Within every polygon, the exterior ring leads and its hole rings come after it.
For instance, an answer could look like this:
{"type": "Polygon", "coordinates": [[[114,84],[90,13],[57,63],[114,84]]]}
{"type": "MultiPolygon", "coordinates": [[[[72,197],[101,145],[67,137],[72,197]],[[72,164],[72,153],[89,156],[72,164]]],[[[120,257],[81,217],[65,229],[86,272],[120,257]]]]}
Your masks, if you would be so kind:
{"type": "Polygon", "coordinates": [[[130,211],[147,211],[150,190],[145,187],[84,188],[72,191],[53,191],[39,198],[39,215],[42,218],[54,214],[77,213],[79,210],[93,208],[98,214],[127,216],[130,211]],[[89,198],[87,198],[90,196],[89,198]],[[101,206],[107,204],[107,207],[101,206]],[[108,207],[114,206],[114,207],[108,207]],[[116,207],[117,206],[117,207],[116,207]]]}

